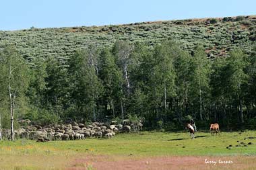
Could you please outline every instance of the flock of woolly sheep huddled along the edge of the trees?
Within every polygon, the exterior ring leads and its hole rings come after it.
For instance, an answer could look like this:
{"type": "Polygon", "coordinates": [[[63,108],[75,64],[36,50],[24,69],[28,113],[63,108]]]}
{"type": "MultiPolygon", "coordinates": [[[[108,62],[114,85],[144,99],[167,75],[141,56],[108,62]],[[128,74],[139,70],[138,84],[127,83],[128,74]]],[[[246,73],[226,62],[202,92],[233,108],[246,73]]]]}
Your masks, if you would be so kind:
{"type": "MultiPolygon", "coordinates": [[[[129,120],[123,120],[123,124],[117,124],[113,121],[111,124],[101,122],[93,122],[92,124],[77,124],[70,122],[69,124],[51,124],[47,126],[24,126],[15,130],[15,138],[28,138],[45,142],[49,140],[79,140],[85,138],[112,138],[119,132],[139,131],[142,124],[131,124],[129,120]]],[[[9,132],[3,132],[3,136],[8,138],[9,132]]]]}

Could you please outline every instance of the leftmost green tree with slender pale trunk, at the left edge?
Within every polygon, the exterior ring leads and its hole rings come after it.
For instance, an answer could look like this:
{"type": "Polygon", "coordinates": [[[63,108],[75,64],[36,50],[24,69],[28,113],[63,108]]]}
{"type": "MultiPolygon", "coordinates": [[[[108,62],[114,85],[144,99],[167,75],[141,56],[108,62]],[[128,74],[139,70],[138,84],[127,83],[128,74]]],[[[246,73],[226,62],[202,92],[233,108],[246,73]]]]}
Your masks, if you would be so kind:
{"type": "MultiPolygon", "coordinates": [[[[24,116],[28,107],[26,91],[29,86],[29,69],[24,58],[12,46],[7,46],[0,51],[0,119],[3,127],[7,125],[9,120],[17,120],[24,116]]],[[[15,123],[14,123],[15,127],[15,123]]]]}

